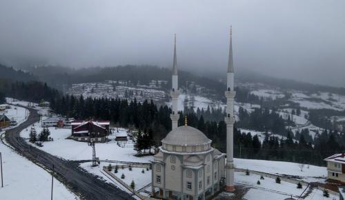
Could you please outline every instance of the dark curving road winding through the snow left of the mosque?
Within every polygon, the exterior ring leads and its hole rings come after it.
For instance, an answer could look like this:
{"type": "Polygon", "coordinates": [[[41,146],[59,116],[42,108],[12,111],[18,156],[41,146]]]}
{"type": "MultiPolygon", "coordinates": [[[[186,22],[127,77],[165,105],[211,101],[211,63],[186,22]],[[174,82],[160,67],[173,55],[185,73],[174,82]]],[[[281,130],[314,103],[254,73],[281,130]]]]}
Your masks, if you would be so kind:
{"type": "Polygon", "coordinates": [[[19,154],[22,154],[34,163],[45,166],[49,170],[52,170],[52,165],[54,165],[56,172],[55,177],[70,188],[72,192],[75,192],[75,194],[81,197],[81,199],[133,199],[130,197],[130,194],[86,172],[86,170],[78,166],[78,163],[59,159],[58,157],[52,156],[26,143],[26,141],[19,136],[19,133],[32,123],[39,121],[39,114],[37,110],[24,106],[22,107],[30,111],[28,119],[16,128],[12,128],[5,133],[6,141],[19,152],[19,154]]]}

